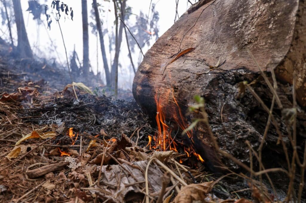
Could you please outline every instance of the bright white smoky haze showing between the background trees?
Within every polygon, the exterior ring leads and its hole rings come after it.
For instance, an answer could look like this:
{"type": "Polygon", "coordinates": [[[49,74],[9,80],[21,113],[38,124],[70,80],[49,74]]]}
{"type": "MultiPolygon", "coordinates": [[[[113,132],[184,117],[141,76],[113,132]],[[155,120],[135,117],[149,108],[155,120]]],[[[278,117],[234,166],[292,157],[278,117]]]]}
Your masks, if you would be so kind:
{"type": "MultiPolygon", "coordinates": [[[[52,0],[40,0],[40,4],[47,4],[50,9],[52,0]]],[[[125,20],[128,27],[135,26],[136,18],[137,16],[140,16],[140,13],[143,13],[143,17],[147,18],[147,15],[149,14],[148,21],[150,21],[150,18],[152,17],[152,5],[155,5],[155,12],[158,12],[159,20],[156,22],[156,27],[158,28],[158,36],[161,36],[166,30],[168,30],[174,23],[175,15],[176,15],[176,2],[175,0],[153,0],[149,12],[151,0],[128,0],[127,6],[131,7],[131,15],[128,20],[125,20]]],[[[75,0],[65,0],[65,4],[69,5],[69,7],[73,8],[73,21],[71,19],[68,19],[67,17],[63,17],[60,19],[60,23],[62,26],[62,32],[64,35],[65,45],[67,48],[67,52],[69,55],[69,58],[73,54],[73,50],[75,48],[76,53],[78,55],[78,58],[80,59],[80,62],[83,61],[83,30],[82,30],[82,7],[81,7],[81,1],[75,1],[75,0]]],[[[94,16],[92,15],[92,1],[88,1],[88,23],[89,24],[96,24],[94,20],[94,16]]],[[[100,18],[102,21],[102,28],[104,32],[104,44],[106,48],[106,56],[108,59],[108,65],[111,67],[111,63],[113,63],[114,60],[114,54],[115,54],[115,47],[114,43],[112,44],[110,51],[110,36],[114,35],[115,33],[115,16],[114,16],[114,5],[113,3],[106,2],[106,1],[98,1],[98,3],[101,4],[99,7],[100,9],[100,18]]],[[[190,4],[187,4],[187,1],[179,2],[178,3],[178,10],[177,13],[179,16],[181,16],[186,9],[188,8],[190,4]]],[[[32,47],[32,51],[34,55],[37,55],[40,58],[46,58],[49,59],[50,62],[53,62],[55,60],[57,63],[62,64],[63,66],[66,66],[66,60],[65,60],[65,49],[63,47],[62,38],[60,34],[60,30],[58,28],[58,25],[56,24],[56,21],[53,20],[51,23],[51,29],[47,30],[47,19],[44,13],[41,15],[41,20],[33,20],[32,13],[26,11],[28,9],[28,1],[21,0],[21,8],[23,11],[24,16],[24,22],[26,31],[28,34],[28,39],[30,42],[30,46],[32,47]],[[49,37],[50,36],[50,37],[49,37]],[[52,40],[52,43],[51,43],[52,40]],[[54,47],[56,47],[56,50],[58,54],[54,51],[54,47]]],[[[12,10],[12,8],[9,8],[9,12],[12,10]]],[[[10,16],[13,16],[13,13],[10,13],[10,16]]],[[[69,16],[70,17],[70,16],[69,16]]],[[[119,21],[120,22],[120,21],[119,21]]],[[[148,23],[149,24],[149,23],[148,23]]],[[[150,28],[150,25],[148,26],[150,28]]],[[[9,32],[7,30],[6,24],[2,25],[2,35],[1,37],[6,39],[6,41],[9,41],[9,32]]],[[[100,72],[101,77],[105,83],[105,73],[103,69],[103,61],[102,61],[102,55],[101,55],[101,49],[100,49],[100,43],[97,39],[96,32],[92,32],[92,27],[89,26],[89,61],[91,65],[92,71],[96,74],[97,71],[100,72]]],[[[143,30],[144,33],[147,35],[147,42],[142,48],[142,51],[147,52],[147,50],[154,44],[156,39],[158,37],[150,36],[148,32],[153,33],[154,30],[143,30]]],[[[15,42],[15,45],[17,45],[17,31],[15,24],[12,25],[12,35],[15,42]]],[[[129,39],[132,40],[132,37],[129,39]]],[[[136,36],[137,38],[137,36],[136,36]]],[[[138,65],[140,64],[141,60],[143,59],[140,49],[137,47],[137,45],[134,45],[132,47],[135,51],[132,53],[132,59],[133,63],[135,65],[135,68],[137,69],[138,65]]],[[[134,72],[131,66],[131,62],[128,56],[128,49],[127,44],[125,41],[125,33],[122,34],[122,43],[120,48],[120,55],[119,55],[119,69],[118,69],[118,87],[121,89],[131,89],[132,87],[132,80],[134,77],[134,72]]]]}

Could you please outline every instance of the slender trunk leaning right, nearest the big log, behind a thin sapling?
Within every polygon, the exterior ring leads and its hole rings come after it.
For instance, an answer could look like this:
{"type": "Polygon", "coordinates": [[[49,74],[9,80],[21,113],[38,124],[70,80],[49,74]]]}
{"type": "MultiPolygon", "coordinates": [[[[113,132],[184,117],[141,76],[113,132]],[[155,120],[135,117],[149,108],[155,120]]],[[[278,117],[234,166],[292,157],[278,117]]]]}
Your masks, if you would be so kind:
{"type": "MultiPolygon", "coordinates": [[[[123,0],[122,3],[121,3],[121,6],[120,6],[121,7],[120,18],[122,20],[124,20],[125,5],[126,5],[126,0],[123,0]]],[[[117,16],[117,18],[118,18],[118,16],[117,16]]],[[[116,77],[115,76],[116,75],[116,69],[118,70],[118,61],[119,61],[119,53],[120,53],[120,47],[121,47],[121,42],[122,42],[123,27],[124,27],[124,24],[121,22],[120,27],[119,27],[119,32],[118,32],[118,35],[117,35],[118,36],[118,43],[116,45],[114,62],[113,62],[112,69],[111,69],[111,75],[112,75],[113,81],[114,81],[114,78],[116,77]]]]}

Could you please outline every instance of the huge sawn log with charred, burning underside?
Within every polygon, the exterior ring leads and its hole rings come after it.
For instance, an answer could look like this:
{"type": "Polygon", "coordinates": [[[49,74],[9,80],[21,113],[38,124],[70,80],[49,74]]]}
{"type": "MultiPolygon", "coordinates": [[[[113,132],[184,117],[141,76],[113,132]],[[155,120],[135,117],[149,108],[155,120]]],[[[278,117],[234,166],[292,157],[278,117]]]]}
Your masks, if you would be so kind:
{"type": "MultiPolygon", "coordinates": [[[[274,69],[280,81],[278,94],[283,108],[292,108],[292,90],[288,84],[292,84],[295,73],[297,100],[305,107],[305,33],[306,2],[302,0],[202,0],[188,9],[146,53],[134,78],[134,98],[151,116],[156,115],[159,101],[165,109],[165,119],[176,120],[180,113],[176,101],[185,114],[187,107],[195,103],[193,96],[203,96],[220,147],[249,162],[245,141],[258,148],[268,115],[250,93],[237,99],[239,83],[250,83],[259,76],[259,69],[246,48],[268,75],[274,69]],[[216,65],[219,67],[214,69],[216,65]]],[[[272,93],[264,81],[256,81],[253,88],[270,107],[272,93]]],[[[287,135],[281,110],[281,106],[275,105],[275,117],[282,133],[287,135]]],[[[301,145],[306,137],[305,122],[300,110],[297,134],[302,139],[301,145]]],[[[220,156],[206,136],[207,129],[198,127],[196,135],[201,140],[195,144],[198,153],[210,159],[211,168],[220,165],[220,156]]],[[[282,146],[276,145],[277,139],[271,125],[267,135],[267,147],[273,151],[269,152],[270,161],[272,155],[283,153],[282,146]]],[[[284,140],[289,146],[288,138],[284,140]]],[[[278,157],[284,160],[283,156],[278,157]]],[[[278,161],[274,160],[275,165],[278,161]]],[[[236,167],[232,162],[221,162],[236,167]]]]}

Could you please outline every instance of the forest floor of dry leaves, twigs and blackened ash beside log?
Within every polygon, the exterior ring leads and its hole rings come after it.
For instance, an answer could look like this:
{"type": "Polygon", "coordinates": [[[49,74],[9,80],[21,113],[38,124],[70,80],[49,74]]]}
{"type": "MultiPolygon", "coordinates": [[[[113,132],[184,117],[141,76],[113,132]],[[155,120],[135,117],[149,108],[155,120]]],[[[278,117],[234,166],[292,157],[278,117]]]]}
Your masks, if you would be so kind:
{"type": "Polygon", "coordinates": [[[273,199],[260,195],[244,175],[220,177],[185,154],[150,149],[155,124],[131,92],[114,99],[76,90],[76,99],[71,88],[62,91],[66,73],[3,53],[0,202],[273,199]]]}

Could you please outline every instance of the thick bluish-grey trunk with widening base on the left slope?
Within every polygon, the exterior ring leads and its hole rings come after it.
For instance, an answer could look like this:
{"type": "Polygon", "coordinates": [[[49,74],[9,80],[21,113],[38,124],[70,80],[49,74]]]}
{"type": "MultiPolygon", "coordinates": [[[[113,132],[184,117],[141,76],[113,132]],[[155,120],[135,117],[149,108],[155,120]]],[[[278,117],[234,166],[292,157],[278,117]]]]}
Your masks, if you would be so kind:
{"type": "Polygon", "coordinates": [[[13,5],[18,35],[17,52],[21,57],[32,58],[33,53],[25,30],[20,0],[13,0],[13,5]]]}

